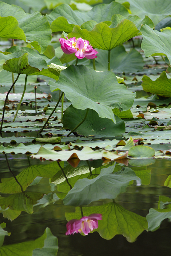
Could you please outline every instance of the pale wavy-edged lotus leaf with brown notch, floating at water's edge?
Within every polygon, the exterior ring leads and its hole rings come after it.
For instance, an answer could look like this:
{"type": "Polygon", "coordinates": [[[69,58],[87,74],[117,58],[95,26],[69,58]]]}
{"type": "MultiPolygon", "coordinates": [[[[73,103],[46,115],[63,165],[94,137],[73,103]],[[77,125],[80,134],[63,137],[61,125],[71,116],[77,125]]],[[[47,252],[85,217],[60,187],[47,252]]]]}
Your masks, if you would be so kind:
{"type": "Polygon", "coordinates": [[[93,151],[89,147],[84,147],[82,150],[61,150],[61,151],[55,151],[55,150],[48,150],[43,148],[43,146],[39,149],[38,153],[36,155],[31,155],[32,158],[44,158],[46,160],[61,160],[61,161],[68,161],[70,158],[78,158],[79,160],[87,161],[89,159],[102,159],[103,158],[103,152],[106,152],[106,150],[96,150],[93,151]]]}

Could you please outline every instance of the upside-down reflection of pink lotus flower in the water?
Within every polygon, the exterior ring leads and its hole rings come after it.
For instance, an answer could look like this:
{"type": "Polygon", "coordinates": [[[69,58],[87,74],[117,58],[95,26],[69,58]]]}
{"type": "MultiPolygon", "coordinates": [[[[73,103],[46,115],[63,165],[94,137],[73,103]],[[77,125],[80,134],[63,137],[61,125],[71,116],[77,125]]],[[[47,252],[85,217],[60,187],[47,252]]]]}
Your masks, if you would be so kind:
{"type": "Polygon", "coordinates": [[[70,220],[66,224],[66,235],[83,232],[88,235],[93,229],[98,228],[98,221],[102,220],[102,214],[94,213],[89,216],[84,216],[80,220],[70,220]]]}

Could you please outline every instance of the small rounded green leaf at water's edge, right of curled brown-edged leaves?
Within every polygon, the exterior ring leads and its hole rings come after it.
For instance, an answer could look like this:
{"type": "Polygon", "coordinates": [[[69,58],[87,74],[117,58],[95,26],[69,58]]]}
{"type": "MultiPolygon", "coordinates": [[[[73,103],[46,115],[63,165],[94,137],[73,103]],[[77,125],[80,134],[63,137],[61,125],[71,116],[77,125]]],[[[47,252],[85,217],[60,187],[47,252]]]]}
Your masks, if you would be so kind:
{"type": "Polygon", "coordinates": [[[151,158],[155,155],[155,150],[147,146],[135,146],[132,147],[128,156],[133,158],[151,158]]]}

